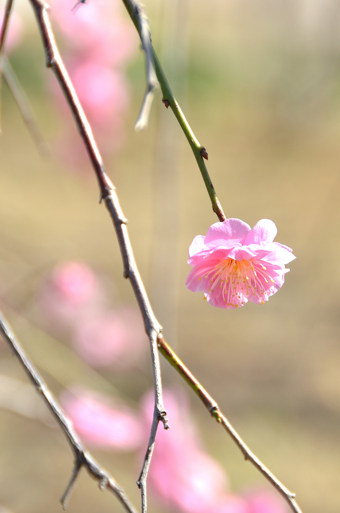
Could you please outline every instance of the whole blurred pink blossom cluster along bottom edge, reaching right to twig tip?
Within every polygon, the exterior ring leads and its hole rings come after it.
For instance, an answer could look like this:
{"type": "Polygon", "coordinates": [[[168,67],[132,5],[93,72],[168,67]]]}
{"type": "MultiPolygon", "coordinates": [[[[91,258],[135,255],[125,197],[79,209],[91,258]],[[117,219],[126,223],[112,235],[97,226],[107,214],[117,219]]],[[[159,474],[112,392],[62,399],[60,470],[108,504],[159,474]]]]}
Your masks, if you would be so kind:
{"type": "MultiPolygon", "coordinates": [[[[162,504],[182,513],[287,513],[274,491],[253,490],[244,497],[228,492],[225,471],[202,448],[184,392],[164,390],[163,396],[170,429],[158,429],[148,473],[150,489],[162,504]]],[[[149,426],[153,392],[142,398],[141,409],[149,426]]]]}

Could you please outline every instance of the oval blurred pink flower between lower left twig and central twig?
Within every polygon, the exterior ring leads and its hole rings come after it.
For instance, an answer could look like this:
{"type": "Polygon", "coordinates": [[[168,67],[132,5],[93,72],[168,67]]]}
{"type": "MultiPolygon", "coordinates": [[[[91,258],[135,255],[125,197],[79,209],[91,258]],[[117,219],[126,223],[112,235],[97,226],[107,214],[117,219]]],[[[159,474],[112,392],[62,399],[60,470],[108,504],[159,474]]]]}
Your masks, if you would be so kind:
{"type": "Polygon", "coordinates": [[[102,449],[136,450],[144,440],[141,420],[133,410],[102,394],[64,392],[63,408],[80,437],[102,449]]]}

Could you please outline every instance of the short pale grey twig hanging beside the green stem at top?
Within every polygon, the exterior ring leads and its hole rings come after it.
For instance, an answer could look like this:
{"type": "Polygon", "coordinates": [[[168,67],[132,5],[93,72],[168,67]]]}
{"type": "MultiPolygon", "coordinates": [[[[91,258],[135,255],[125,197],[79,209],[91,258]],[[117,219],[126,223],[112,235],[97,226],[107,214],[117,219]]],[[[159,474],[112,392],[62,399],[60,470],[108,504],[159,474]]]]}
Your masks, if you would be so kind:
{"type": "Polygon", "coordinates": [[[152,45],[151,34],[147,16],[144,7],[140,3],[136,3],[135,17],[138,23],[138,32],[140,34],[141,43],[145,52],[145,68],[146,68],[146,91],[142,107],[135,124],[136,132],[140,132],[147,128],[150,110],[154,101],[154,89],[157,86],[157,78],[152,63],[152,45]]]}

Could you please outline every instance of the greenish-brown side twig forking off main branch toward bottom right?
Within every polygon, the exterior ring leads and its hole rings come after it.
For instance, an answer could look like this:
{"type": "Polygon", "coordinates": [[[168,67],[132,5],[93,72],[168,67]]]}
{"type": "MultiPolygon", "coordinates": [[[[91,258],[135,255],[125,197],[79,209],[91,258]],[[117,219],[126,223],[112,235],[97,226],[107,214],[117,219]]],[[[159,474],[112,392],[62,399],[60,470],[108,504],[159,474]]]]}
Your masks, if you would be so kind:
{"type": "Polygon", "coordinates": [[[178,358],[177,354],[165,342],[161,335],[158,336],[158,349],[165,360],[167,360],[177,370],[184,381],[186,381],[186,383],[194,390],[206,409],[209,411],[210,415],[224,427],[226,432],[229,433],[237,447],[243,453],[244,459],[249,460],[261,472],[261,474],[265,476],[266,479],[268,479],[268,481],[277,489],[282,497],[286,499],[294,513],[302,513],[294,500],[295,494],[292,494],[292,492],[289,491],[288,488],[286,488],[286,486],[284,486],[265,465],[263,465],[263,463],[254,455],[250,448],[245,445],[229,420],[226,419],[226,417],[224,417],[223,413],[220,411],[217,402],[209,395],[205,388],[202,387],[200,382],[178,358]]]}

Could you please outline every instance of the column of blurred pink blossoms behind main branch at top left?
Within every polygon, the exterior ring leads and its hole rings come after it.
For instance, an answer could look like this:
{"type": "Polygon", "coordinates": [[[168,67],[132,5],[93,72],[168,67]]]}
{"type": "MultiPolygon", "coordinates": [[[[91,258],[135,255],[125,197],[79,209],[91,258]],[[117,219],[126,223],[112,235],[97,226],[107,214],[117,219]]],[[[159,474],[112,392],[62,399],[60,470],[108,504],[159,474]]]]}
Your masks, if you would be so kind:
{"type": "MultiPolygon", "coordinates": [[[[133,24],[121,15],[119,0],[92,0],[72,11],[74,0],[52,0],[52,18],[63,36],[64,54],[71,80],[101,151],[115,151],[124,140],[124,115],[129,87],[124,67],[138,48],[133,24]]],[[[66,102],[55,81],[51,90],[65,113],[66,102]]],[[[71,116],[65,114],[69,123],[71,116]]],[[[56,149],[72,167],[84,169],[86,153],[80,151],[75,130],[67,130],[56,149]]]]}

